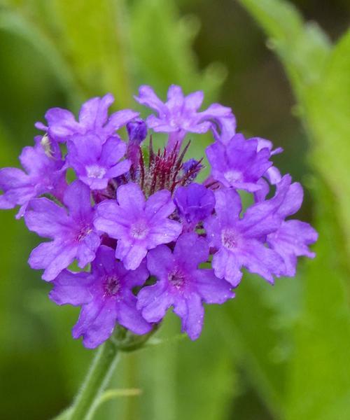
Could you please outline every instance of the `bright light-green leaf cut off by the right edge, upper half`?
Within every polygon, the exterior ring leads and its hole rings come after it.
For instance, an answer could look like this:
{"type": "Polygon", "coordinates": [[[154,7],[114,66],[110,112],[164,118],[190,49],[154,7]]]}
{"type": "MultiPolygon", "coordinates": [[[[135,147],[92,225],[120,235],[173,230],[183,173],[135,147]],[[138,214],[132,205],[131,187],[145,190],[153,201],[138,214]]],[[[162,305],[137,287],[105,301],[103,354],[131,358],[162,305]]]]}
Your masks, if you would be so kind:
{"type": "MultiPolygon", "coordinates": [[[[335,197],[336,215],[350,237],[350,31],[328,58],[322,79],[307,92],[307,114],[313,136],[313,163],[335,197]]],[[[344,246],[350,255],[350,241],[344,246]]]]}

